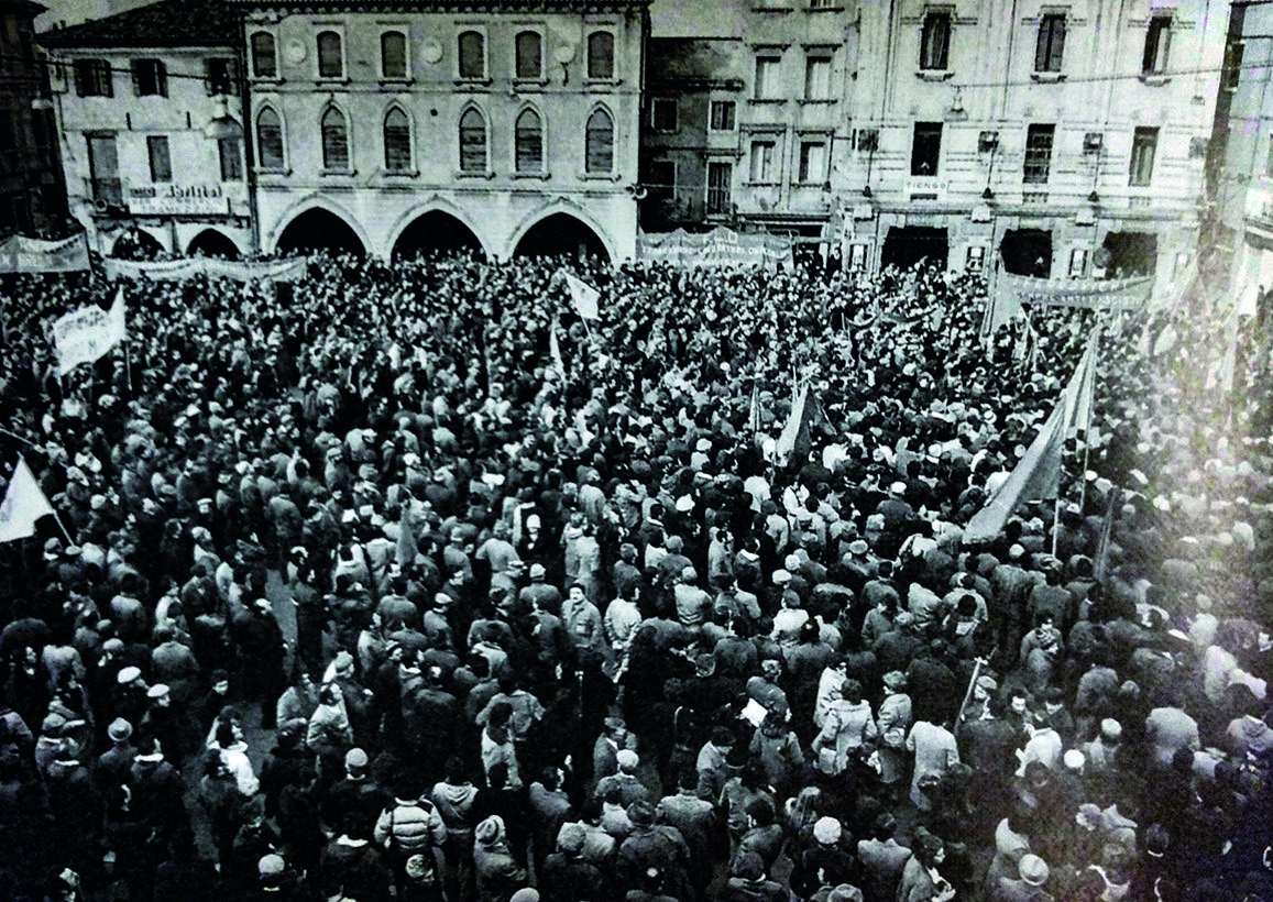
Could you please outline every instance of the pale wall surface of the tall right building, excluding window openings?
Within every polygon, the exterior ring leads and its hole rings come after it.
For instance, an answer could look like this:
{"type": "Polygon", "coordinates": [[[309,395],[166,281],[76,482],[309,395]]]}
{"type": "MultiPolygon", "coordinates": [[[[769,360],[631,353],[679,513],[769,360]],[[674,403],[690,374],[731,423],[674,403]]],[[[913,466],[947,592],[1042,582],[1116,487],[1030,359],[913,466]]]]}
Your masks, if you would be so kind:
{"type": "Polygon", "coordinates": [[[858,220],[849,240],[864,242],[877,257],[891,226],[945,226],[948,265],[960,268],[969,247],[984,248],[990,261],[1008,229],[1043,229],[1053,233],[1049,275],[1064,277],[1071,249],[1088,252],[1082,275],[1092,275],[1109,233],[1147,232],[1158,240],[1156,291],[1179,289],[1181,254],[1192,254],[1197,240],[1225,28],[1225,17],[1203,0],[1172,8],[1144,0],[863,6],[853,127],[855,135],[878,130],[878,150],[854,150],[836,187],[862,197],[869,162],[875,218],[858,220]],[[934,10],[951,13],[948,64],[925,71],[922,37],[934,10]],[[1060,71],[1035,73],[1043,15],[1059,11],[1066,14],[1060,71]],[[1166,74],[1127,78],[1142,69],[1151,18],[1166,13],[1172,17],[1166,74]],[[942,125],[931,177],[911,174],[915,122],[942,125]],[[1045,183],[1023,179],[1031,125],[1055,126],[1045,183]],[[1130,184],[1137,127],[1158,128],[1146,186],[1130,184]],[[984,131],[997,132],[993,154],[979,149],[984,131]],[[1099,151],[1085,148],[1088,132],[1101,135],[1099,151]],[[992,198],[981,197],[987,187],[992,198]]]}

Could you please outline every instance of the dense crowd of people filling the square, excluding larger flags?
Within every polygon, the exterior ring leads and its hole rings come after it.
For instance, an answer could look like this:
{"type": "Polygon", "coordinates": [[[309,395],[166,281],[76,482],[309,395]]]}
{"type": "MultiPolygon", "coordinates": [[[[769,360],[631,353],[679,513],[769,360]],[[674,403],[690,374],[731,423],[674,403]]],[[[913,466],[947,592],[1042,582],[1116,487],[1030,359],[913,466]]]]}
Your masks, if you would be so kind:
{"type": "Polygon", "coordinates": [[[10,277],[0,893],[1273,899],[1260,323],[566,266],[10,277]]]}

